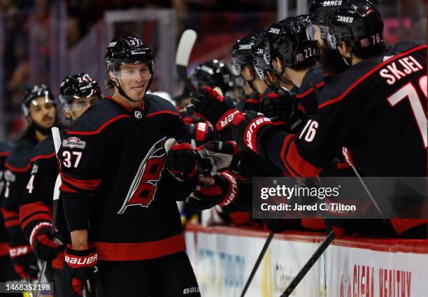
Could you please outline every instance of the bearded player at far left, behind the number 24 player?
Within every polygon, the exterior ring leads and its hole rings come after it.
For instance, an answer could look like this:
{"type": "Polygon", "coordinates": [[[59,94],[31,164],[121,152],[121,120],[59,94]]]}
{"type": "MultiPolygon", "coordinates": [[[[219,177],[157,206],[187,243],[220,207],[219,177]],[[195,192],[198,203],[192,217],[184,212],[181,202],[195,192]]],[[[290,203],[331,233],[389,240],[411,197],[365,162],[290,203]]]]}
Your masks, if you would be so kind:
{"type": "Polygon", "coordinates": [[[45,85],[36,85],[28,89],[22,100],[22,110],[29,127],[6,159],[4,173],[6,184],[1,211],[15,270],[24,280],[32,280],[38,273],[37,259],[22,233],[19,207],[29,181],[30,159],[34,147],[50,134],[52,126],[57,125],[56,103],[50,89],[45,85]]]}

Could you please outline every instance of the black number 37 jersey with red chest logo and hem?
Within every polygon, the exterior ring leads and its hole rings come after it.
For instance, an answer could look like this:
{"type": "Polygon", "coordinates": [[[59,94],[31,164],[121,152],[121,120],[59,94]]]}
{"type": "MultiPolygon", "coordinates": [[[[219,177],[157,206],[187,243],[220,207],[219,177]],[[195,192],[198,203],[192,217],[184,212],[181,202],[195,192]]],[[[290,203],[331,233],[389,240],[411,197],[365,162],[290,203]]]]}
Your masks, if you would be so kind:
{"type": "Polygon", "coordinates": [[[146,94],[132,110],[106,97],[70,127],[59,150],[69,230],[89,229],[100,260],[153,259],[185,250],[176,200],[196,181],[164,169],[164,140],[189,141],[177,110],[146,94]]]}

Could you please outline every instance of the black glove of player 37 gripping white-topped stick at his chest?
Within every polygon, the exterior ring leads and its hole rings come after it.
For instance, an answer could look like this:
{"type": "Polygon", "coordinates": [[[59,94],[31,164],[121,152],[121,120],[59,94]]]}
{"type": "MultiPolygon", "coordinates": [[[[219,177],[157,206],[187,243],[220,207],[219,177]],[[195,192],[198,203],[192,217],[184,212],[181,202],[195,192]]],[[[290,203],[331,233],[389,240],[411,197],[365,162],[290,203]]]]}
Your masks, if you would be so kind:
{"type": "Polygon", "coordinates": [[[165,142],[165,167],[178,180],[191,180],[197,173],[197,157],[192,145],[177,143],[174,138],[165,142]]]}

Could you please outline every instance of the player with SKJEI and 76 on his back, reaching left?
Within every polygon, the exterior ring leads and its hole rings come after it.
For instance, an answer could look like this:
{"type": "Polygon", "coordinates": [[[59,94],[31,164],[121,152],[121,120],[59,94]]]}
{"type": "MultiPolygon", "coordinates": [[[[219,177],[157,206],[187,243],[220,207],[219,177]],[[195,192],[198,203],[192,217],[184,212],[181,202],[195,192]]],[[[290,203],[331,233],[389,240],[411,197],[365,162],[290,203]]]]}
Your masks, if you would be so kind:
{"type": "MultiPolygon", "coordinates": [[[[350,68],[324,87],[318,114],[300,135],[279,131],[265,117],[236,115],[232,131],[238,145],[292,176],[318,175],[343,146],[352,150],[352,161],[365,176],[426,175],[427,129],[420,125],[426,115],[422,106],[401,101],[427,96],[427,46],[407,43],[397,55],[385,55],[383,21],[364,0],[334,12],[327,41],[350,68]],[[397,68],[397,75],[391,68],[397,68]],[[414,109],[421,112],[416,118],[414,109]],[[246,130],[249,126],[254,128],[246,130]]],[[[399,236],[422,226],[426,237],[425,220],[392,220],[392,225],[399,236]]]]}

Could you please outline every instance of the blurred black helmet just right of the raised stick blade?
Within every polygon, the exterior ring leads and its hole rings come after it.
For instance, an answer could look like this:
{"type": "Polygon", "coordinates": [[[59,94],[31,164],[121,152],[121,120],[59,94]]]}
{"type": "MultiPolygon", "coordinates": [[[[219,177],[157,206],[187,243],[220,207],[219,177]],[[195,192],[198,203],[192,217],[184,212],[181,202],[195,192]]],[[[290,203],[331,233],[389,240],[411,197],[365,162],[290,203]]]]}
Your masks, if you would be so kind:
{"type": "Polygon", "coordinates": [[[234,85],[229,68],[224,61],[217,59],[199,64],[194,69],[190,81],[196,89],[203,86],[220,87],[224,93],[234,85]]]}

